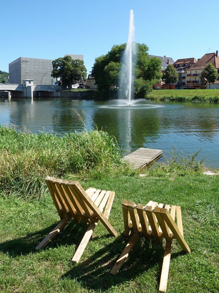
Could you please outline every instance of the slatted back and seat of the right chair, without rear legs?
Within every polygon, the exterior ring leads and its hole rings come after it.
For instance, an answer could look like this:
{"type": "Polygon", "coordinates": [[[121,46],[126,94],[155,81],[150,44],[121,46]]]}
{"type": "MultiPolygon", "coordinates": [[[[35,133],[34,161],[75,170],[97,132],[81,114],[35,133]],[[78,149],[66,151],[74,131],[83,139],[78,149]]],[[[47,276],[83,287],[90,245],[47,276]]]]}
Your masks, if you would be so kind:
{"type": "Polygon", "coordinates": [[[150,236],[154,236],[157,243],[160,243],[163,237],[166,241],[176,238],[183,250],[190,253],[190,248],[183,237],[180,206],[172,205],[170,207],[170,205],[158,204],[152,200],[143,206],[124,200],[122,209],[125,236],[129,236],[130,229],[133,228],[135,233],[142,232],[146,240],[150,240],[150,236]]]}

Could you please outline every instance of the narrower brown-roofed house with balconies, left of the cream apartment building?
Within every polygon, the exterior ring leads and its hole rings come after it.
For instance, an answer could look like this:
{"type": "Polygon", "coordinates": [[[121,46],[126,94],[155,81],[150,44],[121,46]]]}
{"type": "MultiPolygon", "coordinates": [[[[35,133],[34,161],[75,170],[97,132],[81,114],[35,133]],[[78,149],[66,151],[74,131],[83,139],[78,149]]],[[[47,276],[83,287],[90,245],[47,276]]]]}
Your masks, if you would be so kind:
{"type": "Polygon", "coordinates": [[[187,69],[197,60],[195,58],[183,58],[177,59],[176,62],[173,63],[173,67],[178,73],[178,81],[175,85],[176,89],[183,89],[187,87],[187,69]]]}

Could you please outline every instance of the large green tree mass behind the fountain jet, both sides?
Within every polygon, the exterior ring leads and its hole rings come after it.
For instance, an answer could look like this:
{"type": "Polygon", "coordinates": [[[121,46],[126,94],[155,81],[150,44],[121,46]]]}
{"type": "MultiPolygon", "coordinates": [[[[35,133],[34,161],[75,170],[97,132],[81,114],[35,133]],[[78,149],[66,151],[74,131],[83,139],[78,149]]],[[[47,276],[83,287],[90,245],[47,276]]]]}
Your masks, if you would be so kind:
{"type": "MultiPolygon", "coordinates": [[[[136,68],[134,72],[134,96],[143,98],[152,90],[152,85],[161,79],[161,60],[150,58],[145,44],[137,45],[136,68]]],[[[91,75],[98,84],[98,90],[104,93],[120,89],[119,76],[122,67],[122,56],[126,44],[114,45],[105,55],[97,57],[91,75]]]]}

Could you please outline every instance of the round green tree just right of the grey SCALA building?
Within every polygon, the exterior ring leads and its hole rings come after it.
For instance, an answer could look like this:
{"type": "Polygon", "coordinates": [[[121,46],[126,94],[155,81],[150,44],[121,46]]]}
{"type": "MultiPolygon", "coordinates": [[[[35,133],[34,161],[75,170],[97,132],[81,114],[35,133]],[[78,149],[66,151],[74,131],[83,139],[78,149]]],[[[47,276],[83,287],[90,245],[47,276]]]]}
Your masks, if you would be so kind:
{"type": "Polygon", "coordinates": [[[73,60],[71,56],[65,56],[53,60],[52,64],[51,76],[60,77],[62,84],[70,88],[77,81],[84,81],[87,76],[87,69],[83,60],[73,60]]]}

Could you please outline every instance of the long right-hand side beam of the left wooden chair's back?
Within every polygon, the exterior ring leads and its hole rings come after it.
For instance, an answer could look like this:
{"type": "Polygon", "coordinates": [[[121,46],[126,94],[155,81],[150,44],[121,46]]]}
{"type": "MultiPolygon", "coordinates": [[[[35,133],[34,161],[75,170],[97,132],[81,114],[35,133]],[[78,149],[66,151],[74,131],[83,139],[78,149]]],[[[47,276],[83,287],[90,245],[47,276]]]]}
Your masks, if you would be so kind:
{"type": "Polygon", "coordinates": [[[84,189],[81,187],[81,185],[77,181],[69,181],[67,185],[74,186],[74,189],[78,189],[78,194],[80,194],[81,198],[83,198],[84,202],[88,205],[88,207],[92,210],[92,212],[98,217],[100,222],[103,224],[103,226],[109,231],[110,234],[113,236],[117,236],[117,231],[112,227],[112,225],[109,223],[109,221],[106,219],[106,217],[100,212],[98,207],[94,204],[94,202],[91,200],[91,198],[86,194],[84,189]]]}

